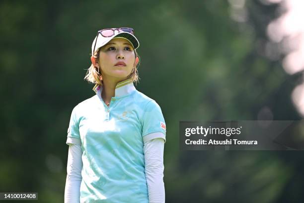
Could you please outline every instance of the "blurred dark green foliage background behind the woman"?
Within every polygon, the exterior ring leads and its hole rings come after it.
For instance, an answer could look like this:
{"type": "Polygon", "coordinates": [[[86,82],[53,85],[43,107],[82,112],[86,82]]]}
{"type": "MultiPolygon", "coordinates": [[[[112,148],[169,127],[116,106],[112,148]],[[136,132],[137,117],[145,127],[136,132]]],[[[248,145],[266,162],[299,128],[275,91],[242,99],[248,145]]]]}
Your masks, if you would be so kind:
{"type": "Polygon", "coordinates": [[[2,0],[0,192],[64,201],[70,115],[94,95],[91,43],[99,29],[133,27],[137,89],[167,125],[166,202],[303,202],[303,151],[179,150],[180,120],[302,119],[291,100],[301,73],[265,51],[279,5],[231,2],[2,0]]]}

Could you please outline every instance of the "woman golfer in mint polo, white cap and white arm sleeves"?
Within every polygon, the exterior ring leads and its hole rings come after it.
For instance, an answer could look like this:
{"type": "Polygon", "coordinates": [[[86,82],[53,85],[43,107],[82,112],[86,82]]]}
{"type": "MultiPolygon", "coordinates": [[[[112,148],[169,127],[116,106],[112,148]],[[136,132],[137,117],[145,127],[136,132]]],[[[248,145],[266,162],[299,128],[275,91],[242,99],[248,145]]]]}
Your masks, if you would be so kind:
{"type": "Polygon", "coordinates": [[[139,41],[128,27],[102,29],[85,79],[95,96],[72,111],[65,203],[164,203],[165,121],[138,92],[139,41]]]}

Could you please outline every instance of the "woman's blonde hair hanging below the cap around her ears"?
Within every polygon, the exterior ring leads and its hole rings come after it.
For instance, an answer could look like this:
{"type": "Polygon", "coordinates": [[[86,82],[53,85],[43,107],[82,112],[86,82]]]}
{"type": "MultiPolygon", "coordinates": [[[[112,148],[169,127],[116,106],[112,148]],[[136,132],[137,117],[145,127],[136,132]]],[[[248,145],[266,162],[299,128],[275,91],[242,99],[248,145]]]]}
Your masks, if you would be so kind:
{"type": "MultiPolygon", "coordinates": [[[[101,47],[100,47],[101,48],[101,47]]],[[[94,52],[94,58],[96,61],[99,61],[99,49],[97,49],[94,52]]],[[[134,49],[134,53],[135,53],[135,58],[138,57],[140,59],[140,57],[138,56],[136,50],[134,49]]],[[[138,76],[138,66],[140,64],[139,63],[132,69],[132,72],[130,73],[130,75],[128,76],[128,79],[132,79],[132,82],[138,83],[139,82],[139,76],[138,76]]],[[[89,83],[93,83],[95,84],[95,87],[97,85],[102,86],[102,73],[101,73],[101,68],[99,66],[99,68],[94,67],[93,64],[91,64],[91,66],[87,69],[86,75],[84,77],[84,80],[88,81],[89,83]]]]}

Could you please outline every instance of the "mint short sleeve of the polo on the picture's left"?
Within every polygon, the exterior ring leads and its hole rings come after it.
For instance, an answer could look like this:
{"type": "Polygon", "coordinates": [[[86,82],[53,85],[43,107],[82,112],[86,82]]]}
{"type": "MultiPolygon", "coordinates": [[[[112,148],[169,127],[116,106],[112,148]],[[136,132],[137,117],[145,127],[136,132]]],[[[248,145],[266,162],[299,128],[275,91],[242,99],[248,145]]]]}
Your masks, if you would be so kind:
{"type": "Polygon", "coordinates": [[[69,144],[80,144],[79,120],[77,116],[77,106],[73,109],[68,128],[67,142],[69,144]]]}

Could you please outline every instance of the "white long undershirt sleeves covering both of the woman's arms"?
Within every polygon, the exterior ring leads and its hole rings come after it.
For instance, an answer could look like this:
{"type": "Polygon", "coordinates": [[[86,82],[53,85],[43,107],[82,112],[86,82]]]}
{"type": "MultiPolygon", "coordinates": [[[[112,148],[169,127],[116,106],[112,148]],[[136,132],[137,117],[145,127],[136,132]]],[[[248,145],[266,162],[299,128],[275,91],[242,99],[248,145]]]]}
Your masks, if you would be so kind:
{"type": "MultiPolygon", "coordinates": [[[[163,183],[164,142],[165,141],[162,138],[154,138],[144,143],[145,174],[148,185],[149,203],[165,202],[163,183]]],[[[68,138],[67,144],[69,144],[69,154],[65,187],[65,203],[79,203],[80,183],[82,180],[81,142],[76,138],[68,138]]]]}

